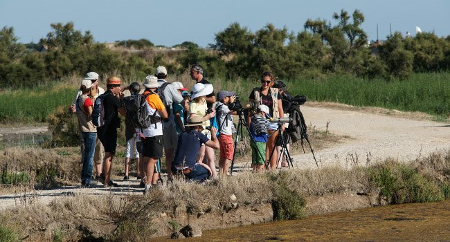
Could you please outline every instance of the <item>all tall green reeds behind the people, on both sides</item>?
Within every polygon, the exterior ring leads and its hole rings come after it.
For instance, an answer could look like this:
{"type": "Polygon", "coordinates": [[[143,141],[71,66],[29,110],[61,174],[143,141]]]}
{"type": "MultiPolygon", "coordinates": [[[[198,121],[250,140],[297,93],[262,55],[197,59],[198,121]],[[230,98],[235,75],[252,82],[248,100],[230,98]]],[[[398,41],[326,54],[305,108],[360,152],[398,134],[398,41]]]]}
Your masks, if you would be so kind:
{"type": "MultiPolygon", "coordinates": [[[[59,84],[42,84],[34,89],[2,91],[0,122],[45,122],[57,106],[73,102],[80,77],[66,77],[59,84]]],[[[188,88],[194,84],[187,74],[170,77],[188,88]]],[[[125,80],[127,81],[127,80],[125,80]]],[[[258,80],[210,80],[216,91],[236,91],[242,102],[258,80]]],[[[444,120],[450,115],[450,73],[415,73],[409,80],[363,80],[330,76],[323,80],[287,80],[291,94],[306,95],[311,101],[341,102],[354,106],[379,106],[400,111],[421,111],[444,120]]]]}

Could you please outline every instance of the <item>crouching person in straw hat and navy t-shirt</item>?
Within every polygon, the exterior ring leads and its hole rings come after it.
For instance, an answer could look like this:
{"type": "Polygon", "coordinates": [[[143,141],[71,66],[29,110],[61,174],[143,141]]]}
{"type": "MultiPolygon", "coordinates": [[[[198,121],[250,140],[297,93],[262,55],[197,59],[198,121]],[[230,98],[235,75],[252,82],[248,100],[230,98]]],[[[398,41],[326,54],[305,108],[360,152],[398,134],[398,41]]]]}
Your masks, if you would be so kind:
{"type": "MultiPolygon", "coordinates": [[[[197,162],[197,156],[201,144],[213,149],[219,149],[219,141],[215,135],[208,139],[204,133],[202,117],[191,115],[188,124],[185,125],[186,132],[178,137],[178,149],[172,162],[172,172],[174,174],[182,173],[190,181],[203,182],[210,178],[212,171],[208,165],[197,162]]],[[[217,129],[211,127],[211,132],[216,133],[217,129]]]]}

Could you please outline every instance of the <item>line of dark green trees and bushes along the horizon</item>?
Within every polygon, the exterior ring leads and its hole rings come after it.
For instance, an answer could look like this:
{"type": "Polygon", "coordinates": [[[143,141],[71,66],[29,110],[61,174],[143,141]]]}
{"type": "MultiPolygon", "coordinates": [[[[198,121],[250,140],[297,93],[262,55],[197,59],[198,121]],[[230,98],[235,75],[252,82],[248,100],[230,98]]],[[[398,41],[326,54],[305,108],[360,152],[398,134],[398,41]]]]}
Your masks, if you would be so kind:
{"type": "Polygon", "coordinates": [[[213,51],[186,41],[174,46],[186,49],[177,53],[156,52],[147,39],[117,41],[116,46],[125,48],[111,49],[94,41],[89,31],[75,30],[71,22],[51,24],[51,32],[37,44],[20,44],[14,28],[5,26],[0,30],[0,89],[34,86],[89,71],[141,79],[159,65],[179,75],[197,63],[209,77],[226,78],[255,78],[262,71],[272,71],[282,79],[337,74],[390,80],[450,68],[450,35],[426,32],[406,38],[395,32],[386,41],[369,45],[359,10],[352,15],[341,10],[332,19],[335,24],[309,19],[305,30],[297,34],[272,24],[250,32],[233,23],[215,35],[213,51]]]}

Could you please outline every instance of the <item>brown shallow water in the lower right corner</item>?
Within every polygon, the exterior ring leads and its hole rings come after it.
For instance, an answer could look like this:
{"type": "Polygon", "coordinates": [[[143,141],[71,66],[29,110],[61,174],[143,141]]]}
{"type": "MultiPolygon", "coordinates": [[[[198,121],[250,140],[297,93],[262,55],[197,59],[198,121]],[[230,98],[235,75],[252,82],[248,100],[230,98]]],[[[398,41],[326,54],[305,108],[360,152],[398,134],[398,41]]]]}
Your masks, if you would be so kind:
{"type": "Polygon", "coordinates": [[[450,200],[209,230],[185,241],[450,241],[450,200]]]}

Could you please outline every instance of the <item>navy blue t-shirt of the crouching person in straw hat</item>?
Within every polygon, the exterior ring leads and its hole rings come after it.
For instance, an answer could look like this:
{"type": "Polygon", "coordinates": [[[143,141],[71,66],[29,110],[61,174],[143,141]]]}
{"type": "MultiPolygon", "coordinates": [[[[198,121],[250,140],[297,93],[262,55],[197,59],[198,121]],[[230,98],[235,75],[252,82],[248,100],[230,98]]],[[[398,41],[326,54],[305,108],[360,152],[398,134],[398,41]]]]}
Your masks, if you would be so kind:
{"type": "Polygon", "coordinates": [[[177,153],[172,162],[172,169],[183,165],[183,160],[185,167],[194,167],[201,144],[205,144],[208,140],[203,133],[195,130],[181,133],[178,136],[177,153]]]}

